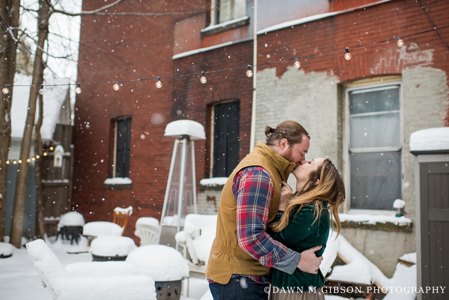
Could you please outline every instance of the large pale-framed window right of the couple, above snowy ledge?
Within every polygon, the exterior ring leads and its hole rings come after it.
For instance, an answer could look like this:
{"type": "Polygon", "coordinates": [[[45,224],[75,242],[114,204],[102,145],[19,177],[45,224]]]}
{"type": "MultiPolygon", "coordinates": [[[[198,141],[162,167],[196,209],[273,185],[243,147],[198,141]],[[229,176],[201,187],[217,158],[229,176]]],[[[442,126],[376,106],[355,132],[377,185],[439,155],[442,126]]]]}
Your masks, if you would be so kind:
{"type": "Polygon", "coordinates": [[[348,88],[351,209],[392,210],[402,194],[401,85],[348,88]]]}

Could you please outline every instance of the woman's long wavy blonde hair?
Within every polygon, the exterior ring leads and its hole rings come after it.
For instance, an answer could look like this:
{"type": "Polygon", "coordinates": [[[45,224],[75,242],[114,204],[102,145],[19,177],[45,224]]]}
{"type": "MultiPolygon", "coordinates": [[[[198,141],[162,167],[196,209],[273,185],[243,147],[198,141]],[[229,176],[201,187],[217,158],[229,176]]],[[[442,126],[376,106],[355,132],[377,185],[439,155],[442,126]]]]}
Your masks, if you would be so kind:
{"type": "MultiPolygon", "coordinates": [[[[314,203],[316,217],[313,223],[318,220],[321,211],[327,209],[330,211],[330,216],[335,220],[338,236],[341,229],[338,208],[344,200],[345,188],[343,178],[339,174],[337,168],[335,168],[334,164],[329,159],[325,159],[316,171],[310,173],[308,182],[302,189],[293,194],[292,198],[287,203],[287,207],[281,220],[273,223],[271,227],[274,232],[281,231],[286,228],[288,222],[295,217],[296,213],[299,212],[301,208],[314,203]],[[318,179],[318,184],[315,185],[318,179]]],[[[333,222],[332,229],[334,229],[333,222]]]]}

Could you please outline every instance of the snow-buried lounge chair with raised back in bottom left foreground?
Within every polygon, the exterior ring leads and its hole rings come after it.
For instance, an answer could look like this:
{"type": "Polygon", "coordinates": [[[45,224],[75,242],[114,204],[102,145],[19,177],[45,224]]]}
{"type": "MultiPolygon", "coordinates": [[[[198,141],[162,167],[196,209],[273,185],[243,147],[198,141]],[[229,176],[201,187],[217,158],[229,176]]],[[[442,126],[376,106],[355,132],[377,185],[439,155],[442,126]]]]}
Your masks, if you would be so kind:
{"type": "Polygon", "coordinates": [[[44,240],[26,244],[34,266],[55,300],[156,300],[154,280],[137,275],[135,265],[122,262],[84,262],[62,266],[44,240]]]}

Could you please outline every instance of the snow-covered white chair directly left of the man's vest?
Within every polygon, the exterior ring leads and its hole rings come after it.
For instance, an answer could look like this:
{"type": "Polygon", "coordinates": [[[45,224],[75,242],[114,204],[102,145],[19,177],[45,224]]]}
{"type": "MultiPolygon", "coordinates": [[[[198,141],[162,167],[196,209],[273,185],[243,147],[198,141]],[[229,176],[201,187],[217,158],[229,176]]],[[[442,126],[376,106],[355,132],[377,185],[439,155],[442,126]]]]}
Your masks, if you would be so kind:
{"type": "Polygon", "coordinates": [[[205,278],[206,264],[215,238],[216,215],[189,214],[185,216],[184,230],[175,239],[183,247],[184,257],[190,256],[190,277],[205,278]]]}

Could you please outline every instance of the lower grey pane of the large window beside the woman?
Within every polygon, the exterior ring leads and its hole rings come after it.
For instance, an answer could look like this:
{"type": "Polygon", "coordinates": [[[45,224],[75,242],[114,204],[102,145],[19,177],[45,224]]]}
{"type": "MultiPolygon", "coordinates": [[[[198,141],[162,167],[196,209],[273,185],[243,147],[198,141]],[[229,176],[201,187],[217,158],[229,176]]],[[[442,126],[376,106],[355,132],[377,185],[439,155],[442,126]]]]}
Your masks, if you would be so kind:
{"type": "Polygon", "coordinates": [[[350,153],[351,208],[392,210],[401,198],[401,152],[350,153]]]}

